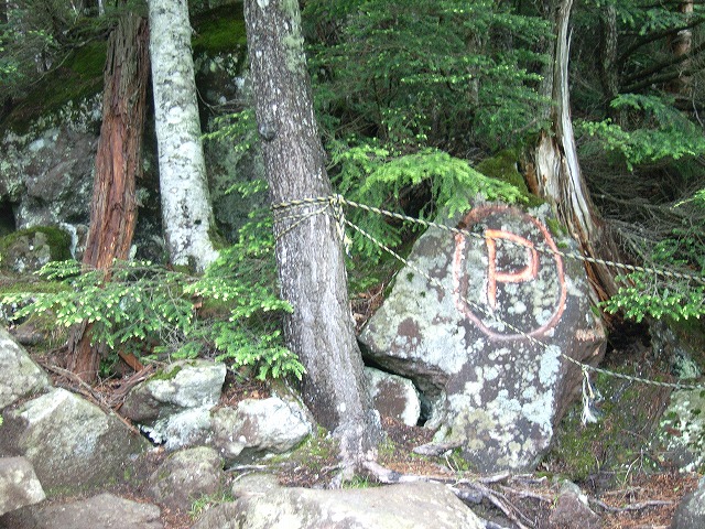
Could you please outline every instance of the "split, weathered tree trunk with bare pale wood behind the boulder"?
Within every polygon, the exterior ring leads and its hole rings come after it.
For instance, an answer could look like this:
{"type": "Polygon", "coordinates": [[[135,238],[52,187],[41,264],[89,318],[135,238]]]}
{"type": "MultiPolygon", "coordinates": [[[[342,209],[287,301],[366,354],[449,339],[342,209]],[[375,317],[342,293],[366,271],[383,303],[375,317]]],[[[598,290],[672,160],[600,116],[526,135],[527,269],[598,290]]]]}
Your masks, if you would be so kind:
{"type": "MultiPolygon", "coordinates": [[[[545,95],[551,97],[551,131],[544,131],[529,154],[529,188],[552,204],[557,218],[567,226],[585,257],[615,259],[617,246],[595,205],[577,160],[568,98],[568,19],[573,0],[560,0],[554,9],[556,41],[552,48],[552,69],[545,76],[545,95]]],[[[617,292],[614,273],[601,264],[585,264],[595,290],[594,301],[617,292]]]]}

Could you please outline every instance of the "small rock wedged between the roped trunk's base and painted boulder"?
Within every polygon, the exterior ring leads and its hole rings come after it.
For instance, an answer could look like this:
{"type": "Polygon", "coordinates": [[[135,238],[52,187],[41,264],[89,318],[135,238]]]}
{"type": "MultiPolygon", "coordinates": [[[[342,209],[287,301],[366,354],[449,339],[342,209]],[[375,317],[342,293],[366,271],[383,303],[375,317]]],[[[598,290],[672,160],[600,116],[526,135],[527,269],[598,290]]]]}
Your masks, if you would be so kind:
{"type": "Polygon", "coordinates": [[[365,368],[365,380],[372,406],[381,417],[391,417],[415,427],[421,415],[421,400],[411,380],[371,367],[365,368]]]}

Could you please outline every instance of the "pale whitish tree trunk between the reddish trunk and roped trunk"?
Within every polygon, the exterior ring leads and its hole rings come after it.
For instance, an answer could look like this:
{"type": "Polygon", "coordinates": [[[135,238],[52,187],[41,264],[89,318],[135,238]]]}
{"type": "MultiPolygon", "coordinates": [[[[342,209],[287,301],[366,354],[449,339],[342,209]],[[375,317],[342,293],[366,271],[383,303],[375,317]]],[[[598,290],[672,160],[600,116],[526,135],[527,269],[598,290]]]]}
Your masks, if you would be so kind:
{"type": "Polygon", "coordinates": [[[186,0],[149,0],[162,220],[172,263],[203,271],[218,256],[186,0]]]}

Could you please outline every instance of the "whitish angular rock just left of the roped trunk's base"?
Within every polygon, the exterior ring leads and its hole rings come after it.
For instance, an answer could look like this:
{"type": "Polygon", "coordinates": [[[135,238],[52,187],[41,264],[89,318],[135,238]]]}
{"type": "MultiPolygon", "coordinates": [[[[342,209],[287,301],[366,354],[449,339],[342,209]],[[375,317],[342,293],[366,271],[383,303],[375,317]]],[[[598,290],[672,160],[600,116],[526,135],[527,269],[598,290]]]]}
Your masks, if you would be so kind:
{"type": "Polygon", "coordinates": [[[246,399],[213,413],[213,444],[228,464],[289,452],[312,431],[301,404],[278,397],[246,399]]]}

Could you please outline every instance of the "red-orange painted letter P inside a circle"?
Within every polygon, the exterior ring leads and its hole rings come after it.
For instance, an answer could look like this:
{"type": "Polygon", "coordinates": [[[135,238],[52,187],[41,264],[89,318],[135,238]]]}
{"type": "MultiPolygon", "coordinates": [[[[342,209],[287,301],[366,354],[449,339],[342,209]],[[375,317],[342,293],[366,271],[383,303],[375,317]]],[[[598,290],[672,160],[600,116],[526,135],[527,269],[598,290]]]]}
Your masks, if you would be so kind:
{"type": "MultiPolygon", "coordinates": [[[[473,209],[469,214],[464,218],[465,226],[473,226],[477,224],[479,220],[494,215],[516,215],[520,216],[525,223],[533,224],[540,231],[543,237],[543,241],[545,245],[557,251],[557,247],[551,237],[549,230],[535,218],[530,215],[520,212],[519,209],[509,207],[509,206],[487,206],[487,207],[478,207],[473,209]]],[[[540,268],[540,259],[539,255],[535,250],[534,244],[522,237],[520,235],[506,231],[502,229],[494,229],[489,228],[485,230],[485,242],[487,246],[487,305],[489,306],[488,312],[494,312],[497,309],[497,283],[522,283],[529,282],[536,279],[539,274],[540,268]],[[518,244],[523,246],[527,249],[527,262],[528,264],[519,271],[516,272],[501,272],[497,270],[497,240],[506,239],[511,241],[512,244],[518,244]]],[[[482,317],[486,314],[476,314],[473,311],[473,307],[465,301],[467,298],[467,292],[470,288],[469,279],[465,273],[465,251],[466,249],[466,238],[465,236],[457,234],[455,236],[455,253],[453,257],[453,284],[454,284],[454,298],[455,305],[457,310],[467,317],[469,321],[475,323],[482,333],[489,336],[491,339],[521,339],[524,336],[522,334],[518,334],[513,332],[512,334],[500,334],[491,328],[489,328],[484,322],[482,317]]],[[[553,264],[555,267],[556,273],[556,282],[558,284],[560,294],[556,300],[556,304],[554,306],[551,319],[543,325],[533,328],[533,330],[522,330],[530,336],[543,335],[549,330],[553,328],[555,324],[561,320],[563,315],[563,311],[565,310],[565,301],[567,299],[567,289],[565,285],[565,276],[563,271],[563,259],[557,253],[553,253],[553,264]]],[[[473,285],[475,288],[479,288],[480,285],[473,285]]],[[[479,303],[478,303],[479,304],[479,303]]]]}

